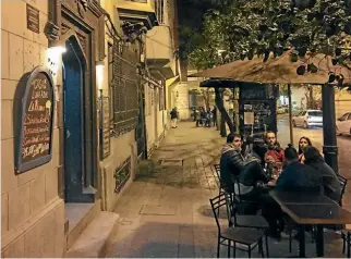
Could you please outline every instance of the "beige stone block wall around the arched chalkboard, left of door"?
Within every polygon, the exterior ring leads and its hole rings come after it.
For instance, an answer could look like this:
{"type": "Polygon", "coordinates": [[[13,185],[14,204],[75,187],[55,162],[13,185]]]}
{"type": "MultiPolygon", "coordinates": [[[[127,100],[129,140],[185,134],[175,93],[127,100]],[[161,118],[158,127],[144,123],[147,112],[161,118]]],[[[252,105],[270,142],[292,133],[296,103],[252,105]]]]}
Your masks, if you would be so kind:
{"type": "MultiPolygon", "coordinates": [[[[3,257],[61,257],[64,250],[64,206],[58,197],[61,171],[58,116],[49,163],[14,173],[14,92],[20,78],[47,65],[44,27],[48,0],[1,1],[1,252],[3,257]],[[26,28],[26,3],[40,11],[40,33],[26,28]]],[[[59,92],[57,86],[56,91],[59,92]]],[[[56,103],[57,108],[57,103],[56,103]]]]}

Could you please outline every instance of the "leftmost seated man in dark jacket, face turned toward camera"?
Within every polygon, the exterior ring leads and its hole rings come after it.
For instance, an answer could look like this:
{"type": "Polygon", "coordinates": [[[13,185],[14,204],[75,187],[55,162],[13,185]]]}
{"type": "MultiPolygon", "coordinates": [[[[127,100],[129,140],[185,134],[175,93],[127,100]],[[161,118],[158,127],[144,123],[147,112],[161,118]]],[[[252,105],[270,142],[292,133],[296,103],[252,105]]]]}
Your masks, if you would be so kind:
{"type": "MultiPolygon", "coordinates": [[[[227,144],[223,146],[220,157],[220,178],[227,192],[240,194],[242,200],[258,201],[263,206],[263,215],[270,225],[271,236],[278,235],[277,219],[281,217],[280,207],[275,200],[267,195],[268,190],[263,187],[267,178],[263,174],[261,161],[252,153],[246,153],[246,158],[241,153],[242,138],[241,135],[231,133],[227,137],[227,144]],[[234,188],[234,183],[235,184],[234,188]],[[274,214],[274,215],[271,215],[274,214]],[[271,220],[273,219],[273,220],[271,220]]],[[[255,150],[253,150],[255,151],[255,150]]],[[[257,202],[242,205],[240,210],[243,213],[255,213],[257,202]]],[[[283,221],[279,222],[280,225],[283,221]]]]}

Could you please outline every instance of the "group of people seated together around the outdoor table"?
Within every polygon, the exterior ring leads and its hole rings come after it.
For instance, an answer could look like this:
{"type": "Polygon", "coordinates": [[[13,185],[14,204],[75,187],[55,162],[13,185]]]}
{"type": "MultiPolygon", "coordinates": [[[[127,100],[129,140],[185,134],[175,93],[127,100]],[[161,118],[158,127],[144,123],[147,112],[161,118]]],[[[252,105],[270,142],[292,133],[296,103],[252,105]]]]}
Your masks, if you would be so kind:
{"type": "Polygon", "coordinates": [[[300,139],[299,151],[292,145],[282,149],[274,132],[256,143],[252,137],[243,141],[240,134],[230,133],[221,150],[220,177],[228,193],[247,201],[240,203],[242,213],[262,209],[269,235],[277,239],[285,227],[285,213],[269,196],[271,180],[276,180],[276,189],[323,193],[337,202],[341,195],[337,174],[307,137],[300,139]]]}

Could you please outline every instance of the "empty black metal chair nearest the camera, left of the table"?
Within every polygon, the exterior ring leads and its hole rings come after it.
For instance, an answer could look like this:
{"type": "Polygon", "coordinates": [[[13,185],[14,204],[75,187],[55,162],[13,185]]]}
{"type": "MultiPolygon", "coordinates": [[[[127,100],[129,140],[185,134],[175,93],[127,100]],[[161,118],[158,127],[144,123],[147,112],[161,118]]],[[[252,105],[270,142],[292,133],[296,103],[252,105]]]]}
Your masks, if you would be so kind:
{"type": "Polygon", "coordinates": [[[209,201],[218,227],[217,258],[219,258],[221,245],[227,246],[228,258],[230,258],[231,248],[233,248],[234,257],[237,255],[238,249],[246,251],[249,254],[249,258],[251,258],[252,250],[255,249],[257,246],[259,248],[261,256],[264,257],[265,255],[263,250],[263,231],[247,227],[227,227],[222,230],[219,223],[218,212],[219,209],[222,207],[228,208],[226,194],[218,195],[217,197],[209,199],[209,201]],[[246,249],[237,247],[237,244],[244,246],[246,249]]]}

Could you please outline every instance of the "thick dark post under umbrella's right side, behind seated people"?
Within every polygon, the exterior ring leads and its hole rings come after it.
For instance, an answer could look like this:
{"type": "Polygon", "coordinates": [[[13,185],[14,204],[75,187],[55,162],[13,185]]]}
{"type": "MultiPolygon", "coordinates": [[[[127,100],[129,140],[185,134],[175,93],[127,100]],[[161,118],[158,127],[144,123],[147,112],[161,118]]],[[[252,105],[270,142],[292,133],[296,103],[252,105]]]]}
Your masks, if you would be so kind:
{"type": "Polygon", "coordinates": [[[326,163],[329,164],[336,173],[339,173],[334,85],[325,84],[322,86],[322,101],[323,153],[325,156],[326,163]]]}

